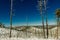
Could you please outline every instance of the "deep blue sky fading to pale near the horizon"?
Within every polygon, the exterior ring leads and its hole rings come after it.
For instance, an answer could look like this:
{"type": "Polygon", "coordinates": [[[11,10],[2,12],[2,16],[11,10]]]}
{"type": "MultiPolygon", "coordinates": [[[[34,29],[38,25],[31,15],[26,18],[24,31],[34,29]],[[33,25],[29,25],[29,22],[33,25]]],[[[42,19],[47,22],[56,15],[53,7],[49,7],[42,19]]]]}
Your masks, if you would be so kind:
{"type": "MultiPolygon", "coordinates": [[[[40,11],[37,8],[38,0],[14,0],[13,26],[26,25],[28,16],[29,25],[41,25],[40,11]]],[[[60,8],[60,0],[47,1],[48,24],[56,24],[55,11],[60,8]]],[[[0,22],[10,25],[10,0],[0,0],[0,22]]],[[[45,17],[44,17],[45,21],[45,17]]]]}

